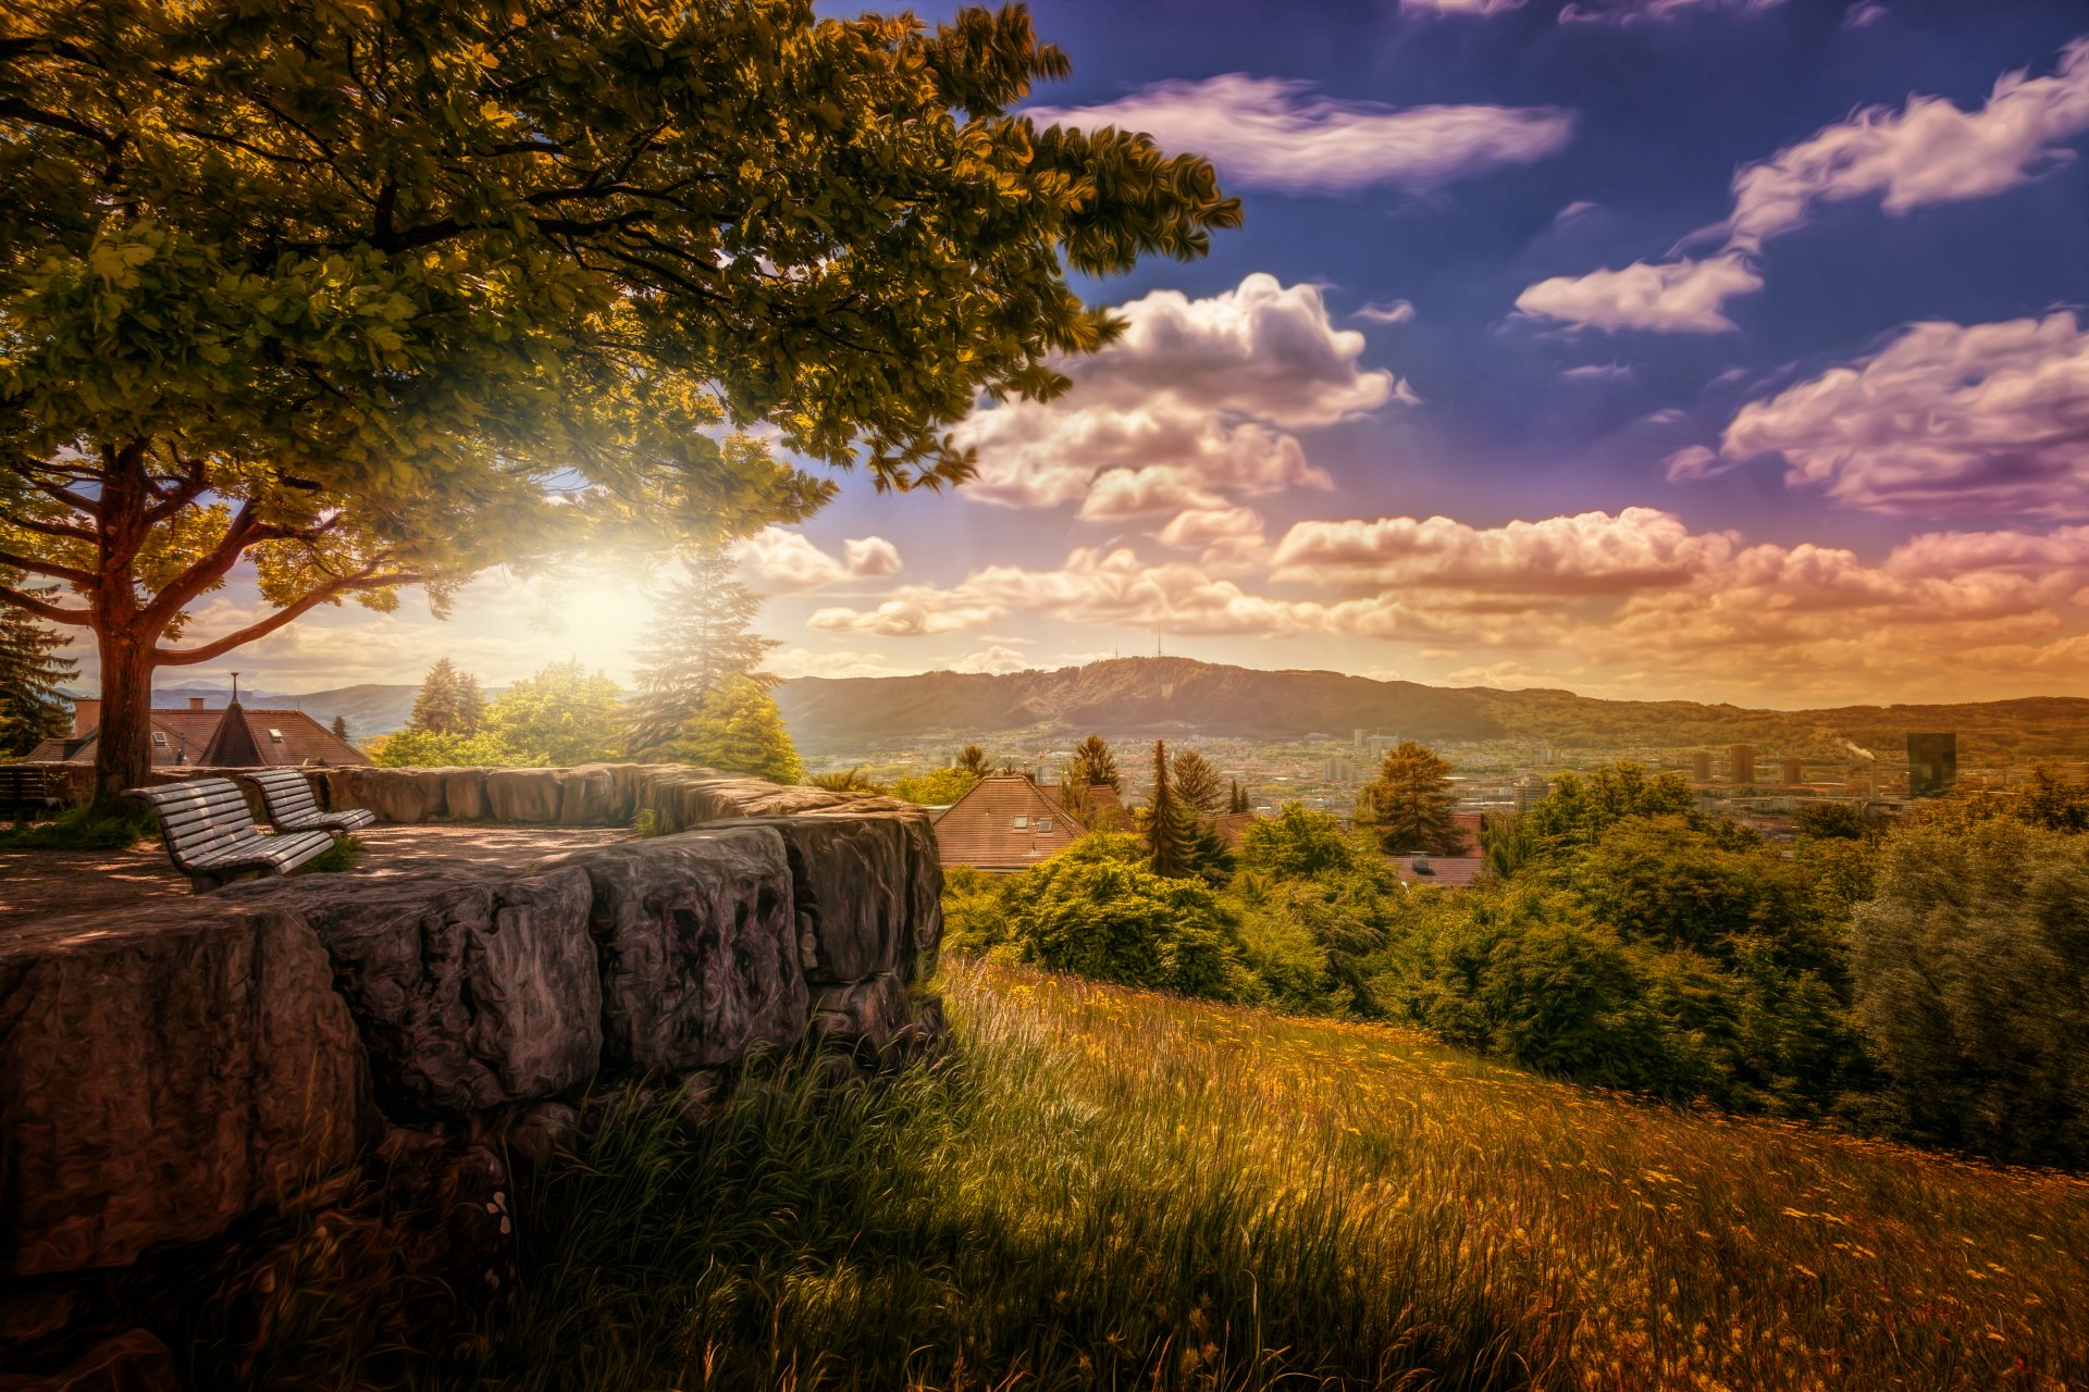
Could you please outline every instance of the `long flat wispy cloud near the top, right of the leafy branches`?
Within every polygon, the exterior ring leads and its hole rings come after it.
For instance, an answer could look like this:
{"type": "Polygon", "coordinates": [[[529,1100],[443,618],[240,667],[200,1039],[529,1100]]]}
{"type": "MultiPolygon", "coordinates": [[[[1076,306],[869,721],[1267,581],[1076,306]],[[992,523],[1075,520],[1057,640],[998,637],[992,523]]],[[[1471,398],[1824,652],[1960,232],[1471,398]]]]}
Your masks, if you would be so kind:
{"type": "MultiPolygon", "coordinates": [[[[1471,8],[1471,6],[1466,6],[1471,8]]],[[[1573,138],[1552,106],[1385,106],[1310,81],[1224,73],[1157,81],[1099,106],[1038,106],[1038,125],[1118,125],[1210,157],[1230,184],[1304,194],[1391,184],[1429,192],[1535,163],[1573,138]]]]}

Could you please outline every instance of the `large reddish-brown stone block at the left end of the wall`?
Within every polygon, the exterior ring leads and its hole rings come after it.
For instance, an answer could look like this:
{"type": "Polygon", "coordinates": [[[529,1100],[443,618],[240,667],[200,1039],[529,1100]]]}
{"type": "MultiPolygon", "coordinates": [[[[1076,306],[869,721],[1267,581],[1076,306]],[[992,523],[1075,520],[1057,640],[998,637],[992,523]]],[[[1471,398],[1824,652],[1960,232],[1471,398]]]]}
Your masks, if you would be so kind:
{"type": "Polygon", "coordinates": [[[353,1160],[370,1071],[311,929],[152,899],[0,935],[0,1269],[117,1267],[353,1160]]]}

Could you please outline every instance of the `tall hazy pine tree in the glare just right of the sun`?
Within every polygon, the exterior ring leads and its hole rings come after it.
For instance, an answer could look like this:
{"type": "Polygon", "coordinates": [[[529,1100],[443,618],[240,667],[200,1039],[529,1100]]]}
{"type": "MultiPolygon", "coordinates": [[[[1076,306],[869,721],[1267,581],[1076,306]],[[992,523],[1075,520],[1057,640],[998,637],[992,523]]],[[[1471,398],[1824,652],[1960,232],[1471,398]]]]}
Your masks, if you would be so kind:
{"type": "Polygon", "coordinates": [[[654,624],[637,651],[639,693],[629,705],[631,751],[660,753],[733,678],[767,693],[777,685],[756,672],[775,639],[748,632],[760,595],[740,582],[733,559],[708,549],[683,561],[683,578],[654,595],[654,624]]]}

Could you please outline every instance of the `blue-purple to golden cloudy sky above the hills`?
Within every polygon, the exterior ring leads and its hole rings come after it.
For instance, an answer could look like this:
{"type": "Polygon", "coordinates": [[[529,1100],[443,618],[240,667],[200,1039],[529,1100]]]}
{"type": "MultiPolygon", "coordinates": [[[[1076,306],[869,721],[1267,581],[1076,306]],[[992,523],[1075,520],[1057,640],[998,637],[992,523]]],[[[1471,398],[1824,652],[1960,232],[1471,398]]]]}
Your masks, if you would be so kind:
{"type": "MultiPolygon", "coordinates": [[[[1212,157],[1245,225],[1078,282],[1128,332],[1065,397],[978,409],[965,488],[844,474],[744,543],[773,670],[2083,693],[2081,0],[1032,10],[1074,73],[1028,111],[1212,157]]],[[[253,611],[236,582],[194,632],[253,611]]],[[[495,574],[445,622],[324,611],[221,668],[623,680],[646,618],[623,572],[495,574]]]]}

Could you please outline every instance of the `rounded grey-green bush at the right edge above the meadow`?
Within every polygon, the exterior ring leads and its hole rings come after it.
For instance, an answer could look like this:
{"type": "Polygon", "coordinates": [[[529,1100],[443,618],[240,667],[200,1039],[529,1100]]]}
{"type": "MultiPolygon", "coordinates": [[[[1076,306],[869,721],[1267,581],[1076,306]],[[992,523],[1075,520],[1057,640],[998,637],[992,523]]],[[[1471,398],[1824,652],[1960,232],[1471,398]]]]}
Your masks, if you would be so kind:
{"type": "Polygon", "coordinates": [[[1897,1119],[2003,1160],[2089,1165],[2089,841],[2014,818],[1899,826],[1851,975],[1897,1119]]]}

